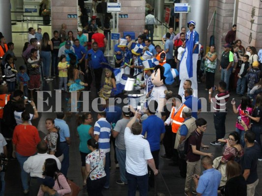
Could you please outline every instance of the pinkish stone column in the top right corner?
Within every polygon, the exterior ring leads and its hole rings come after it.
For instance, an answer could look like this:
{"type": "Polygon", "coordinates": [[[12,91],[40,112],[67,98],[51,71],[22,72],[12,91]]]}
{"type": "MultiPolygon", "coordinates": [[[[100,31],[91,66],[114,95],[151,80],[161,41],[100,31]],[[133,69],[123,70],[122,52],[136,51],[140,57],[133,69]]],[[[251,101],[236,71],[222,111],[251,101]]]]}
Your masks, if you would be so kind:
{"type": "Polygon", "coordinates": [[[243,47],[254,46],[258,50],[262,48],[261,16],[261,0],[239,0],[236,39],[242,41],[243,47]]]}

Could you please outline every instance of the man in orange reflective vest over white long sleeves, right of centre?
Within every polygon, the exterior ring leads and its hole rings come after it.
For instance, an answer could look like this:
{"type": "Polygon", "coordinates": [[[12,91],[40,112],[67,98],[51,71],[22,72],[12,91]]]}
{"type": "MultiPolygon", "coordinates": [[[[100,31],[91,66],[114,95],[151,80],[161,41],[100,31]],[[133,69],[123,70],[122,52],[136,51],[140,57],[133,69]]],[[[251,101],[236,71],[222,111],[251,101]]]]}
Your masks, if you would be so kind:
{"type": "MultiPolygon", "coordinates": [[[[173,107],[172,107],[169,118],[165,121],[165,125],[169,125],[171,123],[172,133],[173,133],[172,147],[174,148],[177,130],[179,126],[184,122],[184,118],[182,117],[182,111],[184,107],[187,107],[187,106],[182,103],[182,98],[180,95],[174,96],[172,100],[172,104],[173,104],[173,107]]],[[[173,160],[174,163],[170,165],[175,166],[178,164],[178,153],[177,153],[177,150],[175,149],[173,149],[173,159],[174,159],[173,160]]]]}

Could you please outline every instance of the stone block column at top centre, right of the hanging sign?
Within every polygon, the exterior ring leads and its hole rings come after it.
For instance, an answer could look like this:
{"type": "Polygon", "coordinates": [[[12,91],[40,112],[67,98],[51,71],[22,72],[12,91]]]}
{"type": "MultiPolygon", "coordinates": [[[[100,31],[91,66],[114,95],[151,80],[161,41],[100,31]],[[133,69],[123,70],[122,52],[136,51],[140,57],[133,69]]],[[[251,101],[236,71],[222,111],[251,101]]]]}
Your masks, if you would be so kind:
{"type": "Polygon", "coordinates": [[[123,31],[134,31],[136,37],[145,29],[145,0],[119,0],[121,13],[128,14],[127,19],[118,19],[118,32],[123,36],[123,31]]]}

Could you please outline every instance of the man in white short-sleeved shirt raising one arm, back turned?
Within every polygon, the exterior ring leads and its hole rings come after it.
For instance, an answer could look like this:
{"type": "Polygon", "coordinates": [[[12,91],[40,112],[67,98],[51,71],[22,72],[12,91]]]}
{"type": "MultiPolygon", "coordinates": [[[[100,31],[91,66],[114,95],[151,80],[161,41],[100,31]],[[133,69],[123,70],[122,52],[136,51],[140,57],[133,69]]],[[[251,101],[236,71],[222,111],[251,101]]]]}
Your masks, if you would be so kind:
{"type": "Polygon", "coordinates": [[[142,124],[136,119],[139,114],[136,111],[134,118],[126,125],[124,139],[126,147],[126,178],[128,182],[128,196],[136,196],[138,187],[140,195],[148,192],[148,166],[157,175],[158,170],[150,151],[149,143],[144,139],[142,124]],[[132,131],[131,131],[132,130],[132,131]]]}

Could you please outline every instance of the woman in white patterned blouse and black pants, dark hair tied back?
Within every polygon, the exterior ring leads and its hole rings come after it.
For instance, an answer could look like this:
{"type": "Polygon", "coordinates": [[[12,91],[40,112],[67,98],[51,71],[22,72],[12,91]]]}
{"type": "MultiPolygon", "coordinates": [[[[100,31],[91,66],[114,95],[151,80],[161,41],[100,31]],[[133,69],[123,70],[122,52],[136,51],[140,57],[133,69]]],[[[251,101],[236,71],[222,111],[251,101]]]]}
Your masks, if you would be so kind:
{"type": "Polygon", "coordinates": [[[87,193],[88,196],[103,196],[102,189],[106,183],[106,154],[99,149],[95,139],[89,139],[87,147],[91,150],[86,157],[87,193]]]}

